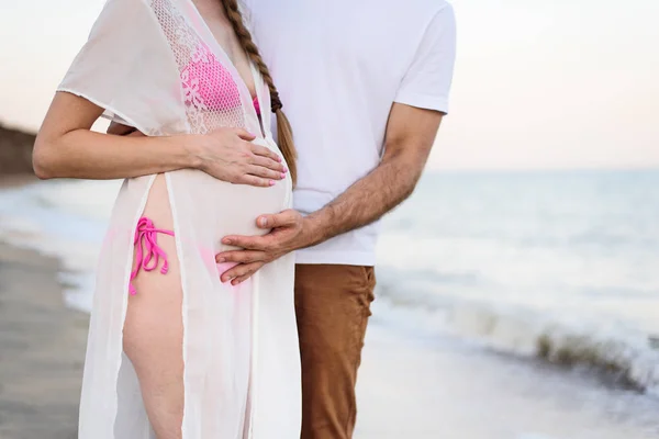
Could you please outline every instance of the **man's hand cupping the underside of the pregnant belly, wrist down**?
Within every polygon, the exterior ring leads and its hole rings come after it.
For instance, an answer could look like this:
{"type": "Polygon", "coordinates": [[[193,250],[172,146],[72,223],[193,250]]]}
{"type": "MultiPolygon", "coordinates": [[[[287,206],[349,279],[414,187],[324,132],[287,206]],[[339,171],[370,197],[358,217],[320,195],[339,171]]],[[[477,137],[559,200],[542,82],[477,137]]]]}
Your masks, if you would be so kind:
{"type": "Polygon", "coordinates": [[[271,230],[264,236],[232,235],[222,239],[222,244],[243,249],[224,251],[215,257],[217,263],[237,262],[237,266],[222,273],[222,282],[231,281],[233,285],[237,285],[266,263],[313,243],[310,224],[298,211],[288,210],[276,215],[261,215],[256,225],[271,230]]]}

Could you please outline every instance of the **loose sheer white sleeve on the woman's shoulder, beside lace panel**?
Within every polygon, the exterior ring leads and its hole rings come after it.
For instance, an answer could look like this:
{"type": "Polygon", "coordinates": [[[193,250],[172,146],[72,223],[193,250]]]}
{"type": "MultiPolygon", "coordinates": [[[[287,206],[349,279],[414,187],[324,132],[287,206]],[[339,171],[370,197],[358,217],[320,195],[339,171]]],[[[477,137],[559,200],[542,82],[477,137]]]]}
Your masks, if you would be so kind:
{"type": "Polygon", "coordinates": [[[189,131],[180,74],[150,0],[109,0],[57,90],[147,135],[189,131]]]}

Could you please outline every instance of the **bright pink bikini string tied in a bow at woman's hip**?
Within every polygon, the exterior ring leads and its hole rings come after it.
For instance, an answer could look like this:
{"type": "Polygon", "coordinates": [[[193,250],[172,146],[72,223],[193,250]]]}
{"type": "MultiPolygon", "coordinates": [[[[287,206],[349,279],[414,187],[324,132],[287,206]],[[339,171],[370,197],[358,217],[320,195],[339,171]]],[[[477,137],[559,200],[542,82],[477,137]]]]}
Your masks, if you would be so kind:
{"type": "Polygon", "coordinates": [[[160,273],[167,274],[167,271],[169,271],[167,254],[158,246],[157,234],[159,233],[174,236],[174,232],[155,228],[154,222],[146,216],[141,217],[137,222],[137,228],[135,229],[135,247],[137,247],[135,255],[136,264],[135,270],[131,273],[131,283],[129,284],[131,295],[137,294],[135,286],[133,286],[133,279],[137,277],[141,269],[144,269],[144,271],[155,270],[158,268],[160,258],[163,258],[160,273]],[[145,247],[144,250],[143,247],[145,247]]]}

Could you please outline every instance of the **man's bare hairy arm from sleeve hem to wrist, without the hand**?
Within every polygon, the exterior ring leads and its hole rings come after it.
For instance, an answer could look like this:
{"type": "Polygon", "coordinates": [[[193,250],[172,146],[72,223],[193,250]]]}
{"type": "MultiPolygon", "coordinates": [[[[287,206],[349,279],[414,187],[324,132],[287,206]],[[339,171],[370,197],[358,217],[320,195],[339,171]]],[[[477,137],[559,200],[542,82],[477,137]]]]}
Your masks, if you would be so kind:
{"type": "Polygon", "coordinates": [[[412,194],[428,155],[443,113],[394,103],[378,167],[323,209],[305,217],[310,246],[366,226],[412,194]]]}

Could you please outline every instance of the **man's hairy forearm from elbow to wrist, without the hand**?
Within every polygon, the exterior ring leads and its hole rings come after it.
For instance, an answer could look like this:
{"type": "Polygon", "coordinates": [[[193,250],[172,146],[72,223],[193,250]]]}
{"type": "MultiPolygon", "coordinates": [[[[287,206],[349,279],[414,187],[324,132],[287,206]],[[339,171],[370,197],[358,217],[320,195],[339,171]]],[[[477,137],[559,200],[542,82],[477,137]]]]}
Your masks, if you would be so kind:
{"type": "Polygon", "coordinates": [[[421,161],[405,155],[390,157],[334,201],[306,216],[308,246],[366,226],[390,212],[414,191],[425,158],[421,161]]]}

